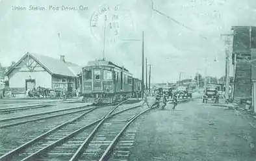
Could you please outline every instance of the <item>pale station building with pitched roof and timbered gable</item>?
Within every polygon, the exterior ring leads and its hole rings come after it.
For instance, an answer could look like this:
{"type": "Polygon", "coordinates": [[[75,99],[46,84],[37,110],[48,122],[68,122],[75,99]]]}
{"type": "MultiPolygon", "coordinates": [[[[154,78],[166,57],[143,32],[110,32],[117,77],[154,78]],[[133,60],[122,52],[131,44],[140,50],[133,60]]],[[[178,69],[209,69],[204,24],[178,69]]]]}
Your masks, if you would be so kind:
{"type": "Polygon", "coordinates": [[[27,89],[38,86],[53,90],[66,89],[73,92],[80,86],[79,73],[82,68],[77,64],[66,62],[64,55],[60,60],[49,56],[26,53],[6,76],[12,93],[25,93],[27,89]]]}

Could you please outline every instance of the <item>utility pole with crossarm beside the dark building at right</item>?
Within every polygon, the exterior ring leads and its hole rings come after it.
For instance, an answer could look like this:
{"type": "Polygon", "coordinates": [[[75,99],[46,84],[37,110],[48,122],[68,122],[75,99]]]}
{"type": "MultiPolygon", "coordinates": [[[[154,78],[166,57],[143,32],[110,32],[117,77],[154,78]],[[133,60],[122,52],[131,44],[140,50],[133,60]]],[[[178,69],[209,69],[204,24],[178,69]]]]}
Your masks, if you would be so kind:
{"type": "Polygon", "coordinates": [[[225,36],[225,97],[229,99],[229,48],[231,43],[231,36],[234,34],[221,34],[221,36],[225,36]]]}

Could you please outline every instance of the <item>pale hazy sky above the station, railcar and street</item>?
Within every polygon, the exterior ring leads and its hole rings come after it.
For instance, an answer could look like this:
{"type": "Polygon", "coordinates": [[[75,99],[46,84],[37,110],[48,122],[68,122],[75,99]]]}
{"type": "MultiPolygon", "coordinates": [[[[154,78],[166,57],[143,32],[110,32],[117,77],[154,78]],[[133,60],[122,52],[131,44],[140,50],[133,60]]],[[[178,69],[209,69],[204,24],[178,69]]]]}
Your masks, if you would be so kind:
{"type": "Polygon", "coordinates": [[[144,31],[151,82],[173,82],[179,73],[181,79],[197,72],[205,75],[205,66],[207,75],[220,78],[225,75],[220,35],[232,33],[232,26],[256,25],[255,0],[153,0],[153,8],[150,0],[0,0],[0,63],[9,66],[31,52],[53,58],[65,55],[66,61],[85,66],[102,58],[104,49],[106,60],[141,78],[144,31]],[[29,10],[30,6],[45,10],[29,10]],[[21,7],[26,10],[14,10],[21,7]],[[99,12],[102,8],[107,11],[99,12]],[[118,28],[113,15],[118,16],[118,28]]]}

